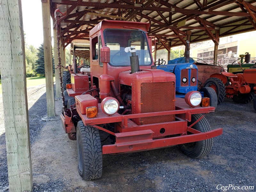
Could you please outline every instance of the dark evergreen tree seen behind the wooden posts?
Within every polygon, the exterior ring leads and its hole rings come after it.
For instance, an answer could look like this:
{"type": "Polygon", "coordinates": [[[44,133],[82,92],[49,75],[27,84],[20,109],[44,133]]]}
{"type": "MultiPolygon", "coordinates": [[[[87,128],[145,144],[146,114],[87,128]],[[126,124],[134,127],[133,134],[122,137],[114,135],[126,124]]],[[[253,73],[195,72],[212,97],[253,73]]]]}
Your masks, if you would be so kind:
{"type": "MultiPolygon", "coordinates": [[[[38,75],[43,75],[45,76],[45,71],[44,71],[44,43],[41,44],[41,46],[37,49],[37,60],[35,64],[35,71],[36,74],[38,75]]],[[[54,57],[52,56],[52,68],[53,68],[53,74],[54,74],[54,57]]]]}

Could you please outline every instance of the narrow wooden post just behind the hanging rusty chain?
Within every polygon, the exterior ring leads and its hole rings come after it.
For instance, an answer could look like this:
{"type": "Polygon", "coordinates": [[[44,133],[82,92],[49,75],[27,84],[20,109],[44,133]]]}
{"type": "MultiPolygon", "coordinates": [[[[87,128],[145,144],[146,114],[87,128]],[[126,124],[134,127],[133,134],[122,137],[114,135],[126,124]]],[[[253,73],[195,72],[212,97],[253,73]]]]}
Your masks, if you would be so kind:
{"type": "Polygon", "coordinates": [[[57,50],[57,35],[56,28],[53,26],[53,40],[54,40],[54,67],[55,67],[55,89],[56,89],[56,97],[61,97],[61,88],[60,88],[60,74],[59,74],[59,60],[58,60],[58,50],[57,50]]]}

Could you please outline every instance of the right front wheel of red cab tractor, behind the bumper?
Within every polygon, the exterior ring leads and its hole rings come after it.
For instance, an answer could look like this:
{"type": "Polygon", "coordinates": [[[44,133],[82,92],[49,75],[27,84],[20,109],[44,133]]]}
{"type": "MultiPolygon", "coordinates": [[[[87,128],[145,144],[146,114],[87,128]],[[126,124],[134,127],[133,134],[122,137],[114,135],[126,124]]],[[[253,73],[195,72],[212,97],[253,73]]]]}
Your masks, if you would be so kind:
{"type": "MultiPolygon", "coordinates": [[[[192,115],[191,122],[188,122],[188,124],[190,124],[190,125],[193,124],[201,116],[202,116],[201,114],[192,115]]],[[[200,132],[211,131],[210,124],[204,117],[199,122],[197,122],[195,125],[193,125],[192,128],[196,129],[197,131],[200,131],[200,132]]],[[[202,140],[202,141],[180,144],[179,148],[185,155],[187,155],[191,158],[201,158],[210,153],[210,151],[212,150],[212,143],[213,143],[213,140],[211,138],[211,139],[202,140]]]]}

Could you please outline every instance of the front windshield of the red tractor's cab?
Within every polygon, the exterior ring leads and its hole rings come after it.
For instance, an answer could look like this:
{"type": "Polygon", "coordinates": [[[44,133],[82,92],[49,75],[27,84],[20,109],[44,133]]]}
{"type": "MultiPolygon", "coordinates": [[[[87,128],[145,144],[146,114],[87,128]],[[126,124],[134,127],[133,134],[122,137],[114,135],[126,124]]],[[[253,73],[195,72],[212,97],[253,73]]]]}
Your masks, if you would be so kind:
{"type": "Polygon", "coordinates": [[[149,53],[147,36],[143,31],[131,29],[105,29],[104,39],[110,48],[110,65],[130,66],[131,52],[125,52],[125,47],[135,46],[140,65],[152,63],[149,53]]]}

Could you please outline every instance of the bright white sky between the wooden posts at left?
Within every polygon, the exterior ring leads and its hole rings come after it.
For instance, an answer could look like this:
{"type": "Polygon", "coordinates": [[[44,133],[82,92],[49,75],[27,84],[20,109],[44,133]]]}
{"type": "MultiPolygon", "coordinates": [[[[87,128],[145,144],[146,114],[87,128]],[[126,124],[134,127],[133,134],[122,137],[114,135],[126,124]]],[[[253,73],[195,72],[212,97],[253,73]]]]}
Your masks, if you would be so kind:
{"type": "Polygon", "coordinates": [[[40,0],[21,0],[21,5],[26,43],[38,48],[44,41],[42,3],[40,0]]]}

